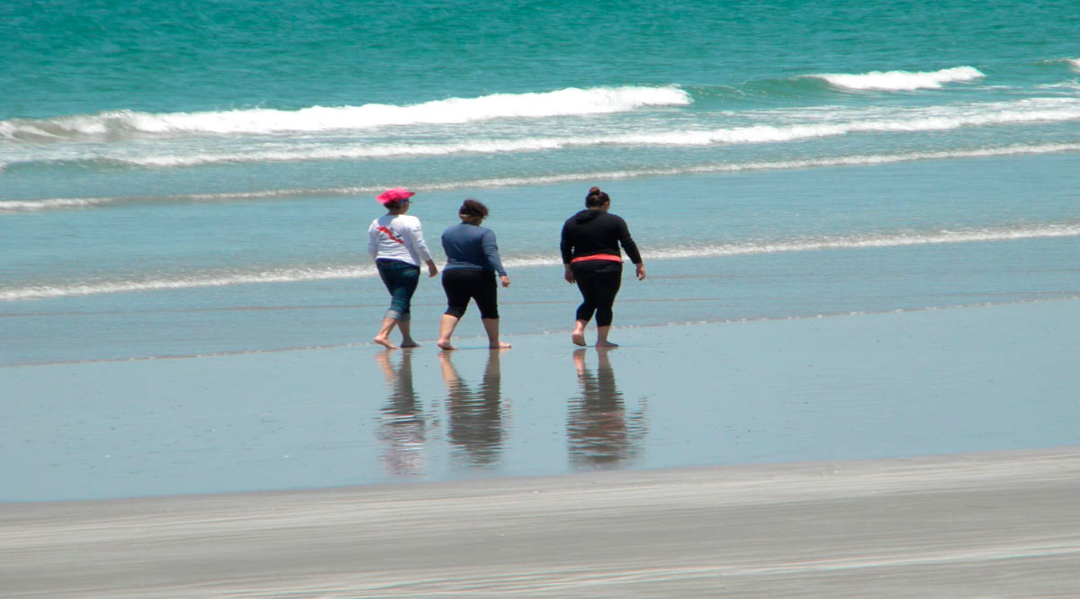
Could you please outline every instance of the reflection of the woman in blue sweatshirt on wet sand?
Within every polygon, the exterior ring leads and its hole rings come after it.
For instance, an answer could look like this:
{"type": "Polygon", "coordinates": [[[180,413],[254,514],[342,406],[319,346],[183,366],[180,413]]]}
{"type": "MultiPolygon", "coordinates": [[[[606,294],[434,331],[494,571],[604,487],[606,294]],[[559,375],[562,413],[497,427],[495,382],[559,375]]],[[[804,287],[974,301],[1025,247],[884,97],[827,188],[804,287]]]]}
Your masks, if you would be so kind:
{"type": "Polygon", "coordinates": [[[480,386],[473,390],[458,375],[450,354],[438,354],[446,383],[447,436],[455,448],[455,462],[468,466],[498,464],[505,437],[500,389],[499,352],[488,353],[480,386]]]}

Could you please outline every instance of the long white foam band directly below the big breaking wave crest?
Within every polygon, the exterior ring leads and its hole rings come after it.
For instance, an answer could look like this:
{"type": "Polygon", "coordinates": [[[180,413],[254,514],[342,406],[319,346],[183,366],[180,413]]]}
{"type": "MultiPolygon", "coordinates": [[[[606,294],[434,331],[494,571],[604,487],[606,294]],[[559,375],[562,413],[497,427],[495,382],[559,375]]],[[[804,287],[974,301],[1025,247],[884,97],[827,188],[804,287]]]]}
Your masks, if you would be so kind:
{"type": "MultiPolygon", "coordinates": [[[[875,110],[810,111],[773,114],[758,118],[783,120],[785,124],[728,126],[720,128],[649,130],[635,123],[633,133],[616,124],[606,131],[585,130],[583,134],[550,136],[529,135],[534,127],[507,126],[495,135],[487,127],[464,136],[461,140],[339,139],[312,135],[289,142],[218,144],[145,142],[137,147],[108,144],[75,150],[66,147],[36,148],[22,155],[24,163],[113,163],[125,166],[171,168],[213,164],[287,163],[299,161],[380,160],[413,156],[458,154],[500,154],[556,151],[567,148],[603,146],[719,146],[739,144],[782,144],[813,138],[852,134],[920,133],[948,131],[972,126],[1008,126],[1027,123],[1054,123],[1080,120],[1080,98],[1075,95],[1027,98],[1012,101],[956,104],[923,108],[889,108],[875,110]],[[521,134],[521,137],[515,136],[521,134]],[[158,149],[161,148],[161,149],[158,149]],[[38,154],[38,155],[35,155],[38,154]]],[[[572,131],[572,130],[571,130],[572,131]]],[[[567,133],[570,133],[569,131],[567,133]]],[[[576,132],[575,132],[576,133],[576,132]]],[[[145,141],[145,140],[144,140],[145,141]]],[[[11,160],[11,159],[6,159],[11,160]]]]}

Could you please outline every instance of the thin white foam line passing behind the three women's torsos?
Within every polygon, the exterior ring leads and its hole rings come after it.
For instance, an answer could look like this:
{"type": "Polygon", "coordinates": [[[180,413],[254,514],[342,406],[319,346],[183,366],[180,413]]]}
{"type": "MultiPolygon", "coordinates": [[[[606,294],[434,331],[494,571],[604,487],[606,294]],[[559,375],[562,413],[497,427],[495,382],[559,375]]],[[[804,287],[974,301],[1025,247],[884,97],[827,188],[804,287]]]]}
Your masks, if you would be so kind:
{"type": "MultiPolygon", "coordinates": [[[[956,244],[971,242],[1015,241],[1041,237],[1080,236],[1080,223],[1050,223],[1035,227],[987,228],[958,231],[894,232],[880,234],[820,236],[730,244],[649,248],[643,251],[650,260],[742,256],[816,251],[822,249],[854,249],[867,247],[899,247],[910,245],[956,244]]],[[[558,266],[556,254],[507,257],[507,268],[558,266]]],[[[265,283],[299,283],[336,278],[361,278],[376,275],[370,266],[341,266],[325,268],[285,268],[269,271],[239,273],[204,273],[174,278],[147,278],[136,281],[99,281],[91,283],[36,285],[0,289],[0,301],[26,301],[45,298],[124,294],[200,287],[222,287],[265,283]]]]}

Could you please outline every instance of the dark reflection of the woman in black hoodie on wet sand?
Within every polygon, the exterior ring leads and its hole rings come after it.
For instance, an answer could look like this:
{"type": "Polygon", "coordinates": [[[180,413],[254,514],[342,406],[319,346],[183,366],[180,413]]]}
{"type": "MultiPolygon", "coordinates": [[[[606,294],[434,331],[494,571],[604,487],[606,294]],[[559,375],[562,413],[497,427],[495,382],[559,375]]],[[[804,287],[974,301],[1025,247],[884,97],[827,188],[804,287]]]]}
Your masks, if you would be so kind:
{"type": "Polygon", "coordinates": [[[577,467],[619,467],[635,460],[648,432],[645,406],[627,414],[608,359],[610,349],[596,349],[596,372],[585,365],[586,350],[575,350],[581,396],[570,399],[566,424],[570,464],[577,467]]]}

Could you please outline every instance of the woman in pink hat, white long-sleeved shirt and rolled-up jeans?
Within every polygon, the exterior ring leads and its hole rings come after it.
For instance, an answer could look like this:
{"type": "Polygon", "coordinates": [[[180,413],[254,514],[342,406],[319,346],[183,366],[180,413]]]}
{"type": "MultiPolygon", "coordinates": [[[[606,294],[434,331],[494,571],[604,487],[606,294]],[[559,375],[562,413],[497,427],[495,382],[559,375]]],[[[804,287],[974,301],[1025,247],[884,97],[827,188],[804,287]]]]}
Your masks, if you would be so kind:
{"type": "Polygon", "coordinates": [[[409,303],[420,281],[420,261],[428,266],[428,276],[438,274],[428,245],[423,243],[420,219],[405,214],[413,195],[415,193],[403,187],[380,193],[376,200],[387,207],[387,214],[373,220],[367,228],[367,253],[390,291],[390,310],[382,317],[382,327],[373,341],[388,350],[397,349],[390,341],[395,326],[402,331],[402,348],[418,345],[410,335],[409,303]]]}

